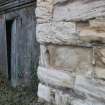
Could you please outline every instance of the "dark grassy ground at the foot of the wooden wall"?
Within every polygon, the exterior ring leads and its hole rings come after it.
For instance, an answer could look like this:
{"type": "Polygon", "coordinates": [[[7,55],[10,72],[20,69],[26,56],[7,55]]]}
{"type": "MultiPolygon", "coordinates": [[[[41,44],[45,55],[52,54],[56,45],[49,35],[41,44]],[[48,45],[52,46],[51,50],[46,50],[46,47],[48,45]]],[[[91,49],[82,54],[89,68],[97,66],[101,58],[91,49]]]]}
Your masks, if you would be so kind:
{"type": "Polygon", "coordinates": [[[0,74],[0,105],[39,105],[34,93],[25,89],[12,89],[0,74]]]}

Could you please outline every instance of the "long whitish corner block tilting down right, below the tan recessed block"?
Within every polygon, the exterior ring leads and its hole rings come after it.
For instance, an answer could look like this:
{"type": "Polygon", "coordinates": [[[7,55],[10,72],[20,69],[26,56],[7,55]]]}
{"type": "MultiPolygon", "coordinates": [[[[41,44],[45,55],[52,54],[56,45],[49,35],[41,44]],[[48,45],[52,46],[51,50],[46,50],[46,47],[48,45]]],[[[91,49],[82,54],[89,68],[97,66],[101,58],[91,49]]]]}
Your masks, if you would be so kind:
{"type": "Polygon", "coordinates": [[[74,76],[71,73],[54,70],[51,68],[38,67],[38,77],[40,81],[55,87],[73,87],[74,76]]]}

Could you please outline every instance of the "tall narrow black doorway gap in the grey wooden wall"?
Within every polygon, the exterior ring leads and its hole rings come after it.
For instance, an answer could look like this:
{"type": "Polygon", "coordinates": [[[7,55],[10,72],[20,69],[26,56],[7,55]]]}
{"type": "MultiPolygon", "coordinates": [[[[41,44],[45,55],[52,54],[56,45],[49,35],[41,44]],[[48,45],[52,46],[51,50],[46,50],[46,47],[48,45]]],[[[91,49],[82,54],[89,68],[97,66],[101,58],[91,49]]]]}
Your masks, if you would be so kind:
{"type": "Polygon", "coordinates": [[[13,20],[6,21],[6,41],[7,41],[7,62],[8,62],[8,79],[11,80],[11,34],[13,20]]]}

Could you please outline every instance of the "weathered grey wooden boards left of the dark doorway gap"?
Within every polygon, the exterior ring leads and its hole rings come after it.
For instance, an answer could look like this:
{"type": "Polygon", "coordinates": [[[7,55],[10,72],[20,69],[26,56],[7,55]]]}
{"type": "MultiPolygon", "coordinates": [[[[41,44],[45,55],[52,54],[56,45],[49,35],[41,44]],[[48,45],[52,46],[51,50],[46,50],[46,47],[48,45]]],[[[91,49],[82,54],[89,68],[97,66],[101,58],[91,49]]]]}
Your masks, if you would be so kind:
{"type": "Polygon", "coordinates": [[[0,72],[8,78],[6,24],[4,16],[0,16],[0,72]]]}

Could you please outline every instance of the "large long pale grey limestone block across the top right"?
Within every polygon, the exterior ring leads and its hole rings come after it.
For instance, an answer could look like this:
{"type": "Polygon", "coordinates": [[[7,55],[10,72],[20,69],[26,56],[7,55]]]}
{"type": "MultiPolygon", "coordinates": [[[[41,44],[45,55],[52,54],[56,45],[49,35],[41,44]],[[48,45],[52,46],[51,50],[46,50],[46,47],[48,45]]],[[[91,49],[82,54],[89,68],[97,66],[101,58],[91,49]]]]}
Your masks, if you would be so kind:
{"type": "Polygon", "coordinates": [[[53,19],[80,21],[105,16],[104,0],[57,0],[53,19]]]}

